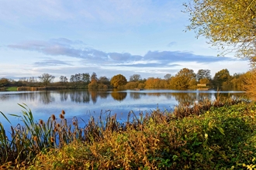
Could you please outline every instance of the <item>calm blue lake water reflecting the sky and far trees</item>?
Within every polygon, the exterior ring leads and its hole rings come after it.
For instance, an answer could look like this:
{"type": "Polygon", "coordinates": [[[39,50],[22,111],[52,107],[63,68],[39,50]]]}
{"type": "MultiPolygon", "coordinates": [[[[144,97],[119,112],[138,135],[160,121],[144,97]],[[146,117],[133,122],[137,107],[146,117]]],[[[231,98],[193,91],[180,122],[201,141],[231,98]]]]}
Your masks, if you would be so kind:
{"type": "MultiPolygon", "coordinates": [[[[221,96],[241,97],[240,91],[223,91],[221,96]]],[[[65,110],[67,122],[71,123],[74,116],[88,121],[90,117],[99,117],[100,113],[117,114],[119,121],[125,121],[132,110],[135,114],[160,110],[171,110],[178,103],[195,102],[204,98],[214,99],[215,90],[123,90],[123,91],[90,91],[90,90],[61,90],[61,91],[20,91],[0,92],[0,111],[9,117],[12,125],[21,123],[18,118],[9,114],[22,115],[22,107],[26,104],[36,121],[47,120],[51,114],[58,116],[65,110]]],[[[104,114],[103,114],[104,115],[104,114]]],[[[106,115],[106,114],[105,114],[106,115]]],[[[0,114],[0,122],[5,128],[8,121],[0,114]]]]}

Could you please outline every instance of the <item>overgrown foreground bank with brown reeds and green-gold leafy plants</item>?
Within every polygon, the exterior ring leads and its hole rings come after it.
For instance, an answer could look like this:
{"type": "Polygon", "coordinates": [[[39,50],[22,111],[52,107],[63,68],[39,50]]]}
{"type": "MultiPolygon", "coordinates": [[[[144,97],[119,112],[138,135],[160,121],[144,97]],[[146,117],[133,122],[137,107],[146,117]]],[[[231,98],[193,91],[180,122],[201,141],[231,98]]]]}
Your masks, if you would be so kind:
{"type": "MultiPolygon", "coordinates": [[[[26,127],[5,138],[0,126],[2,168],[26,169],[247,169],[256,165],[256,104],[205,100],[172,113],[154,110],[125,124],[116,116],[80,128],[64,111],[36,122],[26,106],[26,127]]],[[[251,168],[253,169],[253,168],[251,168]]]]}

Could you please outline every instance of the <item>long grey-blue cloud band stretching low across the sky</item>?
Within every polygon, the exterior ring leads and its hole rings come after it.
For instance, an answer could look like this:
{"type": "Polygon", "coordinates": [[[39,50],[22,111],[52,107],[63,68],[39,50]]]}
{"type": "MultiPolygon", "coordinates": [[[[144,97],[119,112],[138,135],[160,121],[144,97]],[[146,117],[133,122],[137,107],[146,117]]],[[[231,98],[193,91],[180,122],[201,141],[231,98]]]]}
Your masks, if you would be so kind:
{"type": "MultiPolygon", "coordinates": [[[[11,49],[31,50],[49,56],[69,56],[83,59],[85,63],[102,63],[111,66],[175,66],[178,62],[215,63],[232,61],[234,58],[199,56],[181,51],[149,51],[144,56],[130,53],[105,53],[98,49],[88,48],[84,42],[70,39],[50,39],[49,41],[28,41],[8,46],[11,49]]],[[[45,59],[34,63],[37,66],[71,65],[57,59],[45,59]]]]}

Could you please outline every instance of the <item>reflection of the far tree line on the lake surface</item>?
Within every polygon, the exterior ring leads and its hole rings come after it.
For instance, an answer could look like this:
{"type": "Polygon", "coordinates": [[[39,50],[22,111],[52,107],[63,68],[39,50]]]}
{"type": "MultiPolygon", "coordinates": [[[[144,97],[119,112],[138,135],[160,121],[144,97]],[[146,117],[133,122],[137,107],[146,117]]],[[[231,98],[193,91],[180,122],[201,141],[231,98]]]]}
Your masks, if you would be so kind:
{"type": "MultiPolygon", "coordinates": [[[[202,101],[205,99],[214,100],[219,95],[220,97],[242,97],[244,93],[216,93],[216,91],[188,91],[188,92],[178,92],[178,91],[161,91],[161,90],[145,90],[145,91],[108,91],[108,90],[59,90],[59,91],[41,91],[41,92],[31,92],[31,93],[16,93],[16,96],[19,96],[19,100],[22,100],[22,103],[27,101],[40,101],[41,104],[50,104],[55,100],[60,100],[65,102],[71,100],[74,103],[78,104],[88,104],[92,101],[93,104],[96,104],[99,99],[122,101],[126,100],[127,93],[129,93],[130,100],[142,100],[144,97],[165,97],[166,100],[174,99],[178,103],[192,104],[195,101],[202,101]],[[110,98],[109,98],[110,97],[110,98]]],[[[12,100],[12,93],[0,93],[0,101],[3,100],[12,100]]]]}

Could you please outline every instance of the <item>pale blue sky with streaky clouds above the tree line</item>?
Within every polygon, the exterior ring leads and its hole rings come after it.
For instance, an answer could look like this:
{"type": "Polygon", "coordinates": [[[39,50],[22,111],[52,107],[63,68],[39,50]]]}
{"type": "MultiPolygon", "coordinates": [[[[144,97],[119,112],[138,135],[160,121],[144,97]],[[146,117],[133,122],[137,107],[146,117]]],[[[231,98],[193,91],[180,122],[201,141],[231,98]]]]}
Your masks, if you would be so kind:
{"type": "Polygon", "coordinates": [[[218,52],[184,32],[181,0],[3,0],[0,78],[75,73],[164,78],[182,68],[249,70],[247,60],[218,52]]]}

